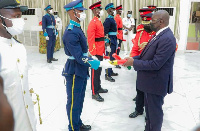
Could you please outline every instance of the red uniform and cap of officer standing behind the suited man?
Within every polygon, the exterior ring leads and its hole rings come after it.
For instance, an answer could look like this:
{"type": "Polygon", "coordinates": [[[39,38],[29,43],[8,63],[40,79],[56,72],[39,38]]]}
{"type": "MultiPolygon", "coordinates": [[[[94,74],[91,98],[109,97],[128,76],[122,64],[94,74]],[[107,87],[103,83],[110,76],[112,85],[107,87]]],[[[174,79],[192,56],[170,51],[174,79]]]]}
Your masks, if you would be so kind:
{"type": "MultiPolygon", "coordinates": [[[[156,32],[151,31],[147,32],[144,28],[144,25],[149,25],[153,10],[149,8],[143,8],[139,10],[140,16],[142,18],[142,24],[137,26],[137,33],[135,38],[132,40],[133,48],[130,53],[130,57],[139,56],[143,49],[147,46],[149,40],[156,34],[156,32]]],[[[149,26],[150,27],[150,26],[149,26]]],[[[129,117],[135,118],[138,115],[143,114],[144,112],[144,92],[138,90],[136,85],[136,107],[135,112],[131,113],[129,117]]]]}

